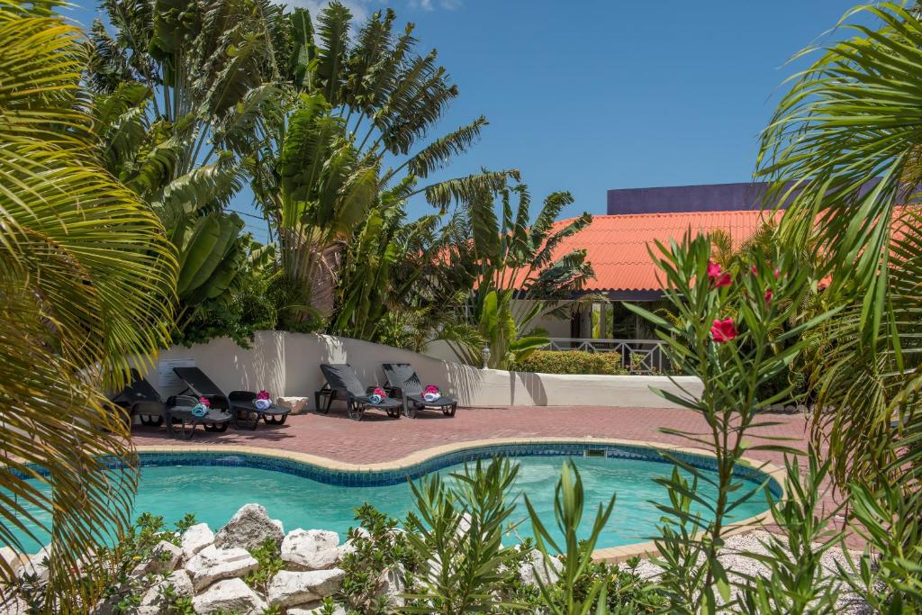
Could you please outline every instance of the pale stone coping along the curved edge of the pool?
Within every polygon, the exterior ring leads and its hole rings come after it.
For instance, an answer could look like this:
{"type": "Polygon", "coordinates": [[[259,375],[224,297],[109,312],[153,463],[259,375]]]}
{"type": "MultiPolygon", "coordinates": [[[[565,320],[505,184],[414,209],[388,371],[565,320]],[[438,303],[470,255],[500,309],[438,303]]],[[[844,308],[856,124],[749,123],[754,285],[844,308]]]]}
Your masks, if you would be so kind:
{"type": "MultiPolygon", "coordinates": [[[[663,444],[644,440],[624,440],[620,438],[594,438],[588,437],[534,437],[534,438],[489,438],[484,440],[467,440],[450,444],[432,446],[430,448],[415,451],[392,461],[384,461],[373,464],[350,464],[337,459],[330,459],[320,455],[311,455],[309,453],[297,453],[277,448],[267,448],[264,446],[247,446],[242,444],[220,444],[209,446],[207,444],[141,444],[135,447],[138,454],[145,453],[237,453],[240,455],[262,455],[274,457],[277,459],[293,460],[300,463],[309,464],[315,467],[322,467],[331,470],[343,470],[352,472],[380,472],[387,470],[396,470],[405,467],[413,467],[434,459],[442,455],[448,455],[467,449],[481,448],[485,446],[497,445],[514,445],[514,444],[604,444],[613,446],[641,446],[653,448],[656,450],[666,450],[671,452],[686,453],[689,455],[701,455],[715,458],[716,455],[703,448],[694,448],[691,446],[677,446],[674,444],[663,444]]],[[[774,479],[781,489],[781,499],[786,497],[785,479],[786,472],[783,467],[774,465],[770,461],[752,459],[751,457],[740,457],[739,463],[756,469],[767,477],[774,479]]],[[[774,522],[771,509],[764,513],[736,521],[725,526],[724,536],[734,536],[743,532],[757,529],[760,526],[774,522]]],[[[694,538],[700,538],[703,532],[699,532],[694,538]]],[[[593,550],[593,560],[599,562],[624,562],[632,557],[655,557],[659,554],[656,549],[656,543],[653,540],[636,542],[630,545],[621,545],[620,547],[599,547],[593,550]]]]}

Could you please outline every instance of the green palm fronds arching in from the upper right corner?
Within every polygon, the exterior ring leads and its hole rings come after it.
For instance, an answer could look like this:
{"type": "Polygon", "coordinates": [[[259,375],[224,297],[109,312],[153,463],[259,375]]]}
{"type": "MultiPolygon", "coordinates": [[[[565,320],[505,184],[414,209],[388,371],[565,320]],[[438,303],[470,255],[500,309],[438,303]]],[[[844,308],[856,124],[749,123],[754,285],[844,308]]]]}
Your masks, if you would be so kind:
{"type": "Polygon", "coordinates": [[[907,175],[922,125],[922,22],[892,3],[861,11],[884,26],[845,23],[856,35],[792,77],[762,136],[759,164],[778,181],[778,202],[789,203],[786,237],[806,242],[815,229],[814,256],[832,274],[833,291],[863,289],[862,335],[873,347],[894,207],[911,201],[922,179],[907,175]]]}

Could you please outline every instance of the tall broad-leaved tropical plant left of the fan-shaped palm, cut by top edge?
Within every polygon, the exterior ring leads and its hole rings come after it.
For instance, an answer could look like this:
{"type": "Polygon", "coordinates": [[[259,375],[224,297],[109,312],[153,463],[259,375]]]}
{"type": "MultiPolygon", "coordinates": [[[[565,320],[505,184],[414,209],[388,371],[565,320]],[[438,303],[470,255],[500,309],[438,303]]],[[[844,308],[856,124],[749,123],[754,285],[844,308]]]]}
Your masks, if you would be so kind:
{"type": "Polygon", "coordinates": [[[179,254],[177,337],[208,303],[225,309],[246,258],[225,209],[256,147],[254,122],[278,78],[268,3],[104,2],[87,77],[103,166],[144,198],[179,254]],[[183,10],[180,10],[180,9],[183,10]]]}

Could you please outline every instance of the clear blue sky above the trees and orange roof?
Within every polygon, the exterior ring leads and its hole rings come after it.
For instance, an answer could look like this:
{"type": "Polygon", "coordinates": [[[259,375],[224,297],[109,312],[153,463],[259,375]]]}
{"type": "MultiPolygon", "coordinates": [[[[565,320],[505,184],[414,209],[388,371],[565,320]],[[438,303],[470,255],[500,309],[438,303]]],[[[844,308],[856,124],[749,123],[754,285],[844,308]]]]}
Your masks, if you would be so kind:
{"type": "MultiPolygon", "coordinates": [[[[517,168],[535,200],[571,191],[570,216],[605,213],[609,188],[748,181],[759,132],[794,70],[787,59],[824,40],[856,3],[346,4],[359,16],[392,6],[401,25],[417,24],[421,52],[439,50],[461,90],[443,132],[487,116],[491,125],[450,175],[517,168]]],[[[82,23],[97,13],[94,3],[76,5],[71,17],[82,23]]],[[[414,216],[427,210],[410,207],[414,216]]]]}

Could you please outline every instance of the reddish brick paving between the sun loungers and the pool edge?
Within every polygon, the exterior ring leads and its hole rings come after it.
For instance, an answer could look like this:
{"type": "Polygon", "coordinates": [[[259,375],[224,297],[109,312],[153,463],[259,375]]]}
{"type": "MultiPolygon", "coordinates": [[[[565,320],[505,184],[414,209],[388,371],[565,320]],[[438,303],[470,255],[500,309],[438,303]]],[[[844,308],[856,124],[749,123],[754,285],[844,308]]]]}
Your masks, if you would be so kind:
{"type": "MultiPolygon", "coordinates": [[[[783,437],[783,444],[805,450],[807,423],[800,414],[772,414],[776,424],[753,432],[753,444],[765,444],[766,437],[783,437]]],[[[349,420],[345,410],[333,409],[329,415],[313,412],[292,416],[281,426],[260,423],[254,432],[204,432],[199,428],[191,441],[168,438],[165,428],[136,427],[137,445],[237,444],[320,455],[348,463],[392,461],[433,446],[514,437],[620,438],[663,444],[694,446],[680,436],[660,432],[660,428],[703,433],[704,420],[691,410],[676,408],[459,408],[455,418],[441,412],[420,412],[418,419],[389,419],[384,412],[369,411],[361,421],[349,420]]],[[[783,455],[755,451],[749,456],[784,465],[783,455]]],[[[832,505],[827,497],[825,505],[832,505]]],[[[769,528],[771,529],[771,528],[769,528]]],[[[860,547],[857,538],[848,540],[860,547]]]]}

